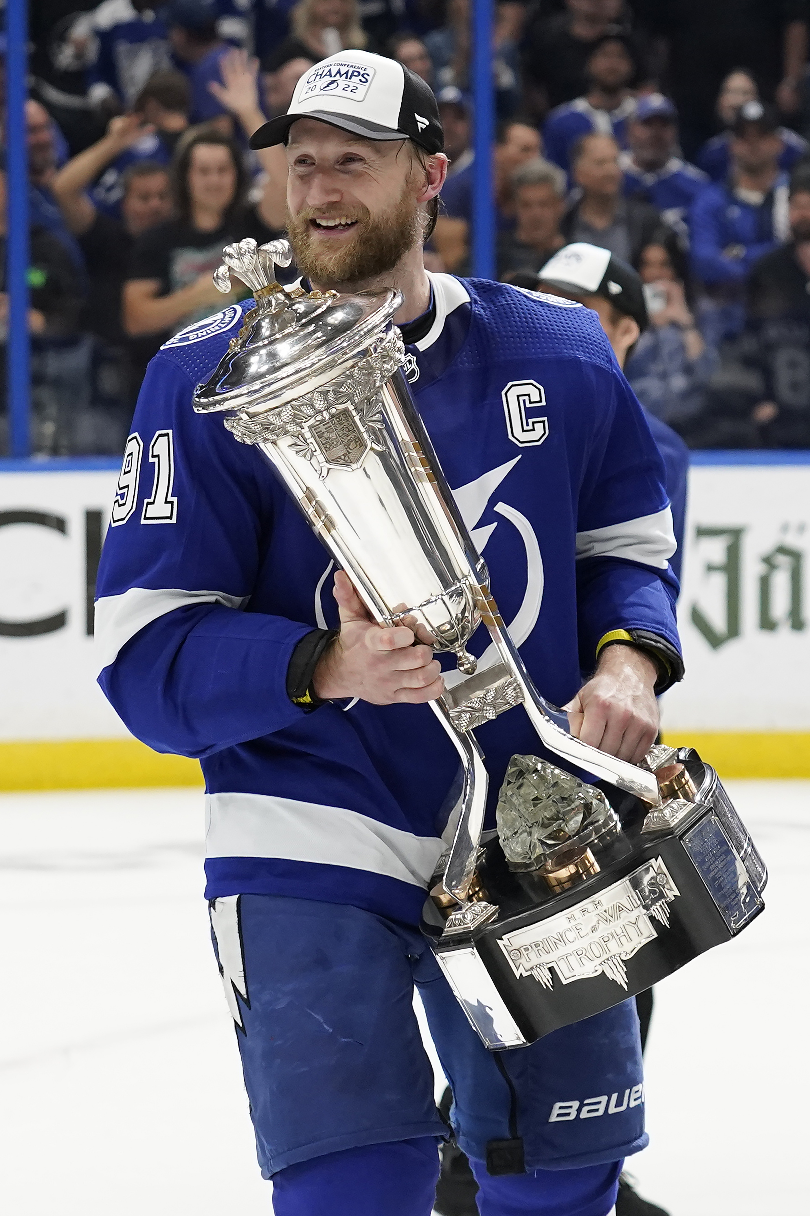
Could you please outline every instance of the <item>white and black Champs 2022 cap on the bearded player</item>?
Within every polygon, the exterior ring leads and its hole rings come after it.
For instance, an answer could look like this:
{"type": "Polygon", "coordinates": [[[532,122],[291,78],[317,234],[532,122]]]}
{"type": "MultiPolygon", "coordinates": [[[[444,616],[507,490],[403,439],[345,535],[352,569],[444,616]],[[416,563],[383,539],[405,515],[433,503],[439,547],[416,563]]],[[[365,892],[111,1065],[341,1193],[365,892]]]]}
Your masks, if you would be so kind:
{"type": "Polygon", "coordinates": [[[396,60],[341,51],[304,72],[286,114],[251,136],[252,148],[285,143],[298,118],[319,118],[367,140],[414,140],[440,152],[444,131],[429,85],[396,60]]]}

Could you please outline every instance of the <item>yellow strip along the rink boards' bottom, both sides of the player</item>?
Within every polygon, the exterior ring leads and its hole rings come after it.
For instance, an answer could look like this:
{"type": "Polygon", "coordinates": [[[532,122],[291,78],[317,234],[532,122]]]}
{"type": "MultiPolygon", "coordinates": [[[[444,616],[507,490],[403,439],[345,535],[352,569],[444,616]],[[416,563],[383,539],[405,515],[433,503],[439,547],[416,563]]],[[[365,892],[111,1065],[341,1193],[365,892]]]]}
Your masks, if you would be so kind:
{"type": "MultiPolygon", "coordinates": [[[[810,731],[666,731],[664,742],[697,748],[721,777],[810,779],[810,731]]],[[[0,790],[150,786],[202,789],[199,765],[161,755],[137,739],[0,743],[0,790]]]]}

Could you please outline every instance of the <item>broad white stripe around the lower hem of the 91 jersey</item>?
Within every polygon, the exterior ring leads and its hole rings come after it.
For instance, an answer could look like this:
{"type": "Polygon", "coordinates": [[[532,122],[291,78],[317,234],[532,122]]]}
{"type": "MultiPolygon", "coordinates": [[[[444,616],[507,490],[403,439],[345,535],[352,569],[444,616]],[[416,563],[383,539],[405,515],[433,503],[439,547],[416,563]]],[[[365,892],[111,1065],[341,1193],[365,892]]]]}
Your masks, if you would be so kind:
{"type": "Polygon", "coordinates": [[[347,866],[427,886],[445,844],[342,806],[272,794],[206,795],[207,857],[282,857],[347,866]]]}

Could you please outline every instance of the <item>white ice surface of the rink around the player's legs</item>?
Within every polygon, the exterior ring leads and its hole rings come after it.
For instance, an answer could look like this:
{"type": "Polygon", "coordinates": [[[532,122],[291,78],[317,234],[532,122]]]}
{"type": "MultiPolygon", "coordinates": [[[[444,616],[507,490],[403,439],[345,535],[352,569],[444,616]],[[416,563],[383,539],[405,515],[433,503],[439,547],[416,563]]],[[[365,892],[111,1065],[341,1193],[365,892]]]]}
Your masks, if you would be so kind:
{"type": "MultiPolygon", "coordinates": [[[[657,989],[652,1144],[629,1165],[671,1216],[798,1216],[810,782],[730,788],[767,910],[657,989]]],[[[270,1216],[208,939],[201,795],[2,795],[0,876],[0,1211],[270,1216]]]]}

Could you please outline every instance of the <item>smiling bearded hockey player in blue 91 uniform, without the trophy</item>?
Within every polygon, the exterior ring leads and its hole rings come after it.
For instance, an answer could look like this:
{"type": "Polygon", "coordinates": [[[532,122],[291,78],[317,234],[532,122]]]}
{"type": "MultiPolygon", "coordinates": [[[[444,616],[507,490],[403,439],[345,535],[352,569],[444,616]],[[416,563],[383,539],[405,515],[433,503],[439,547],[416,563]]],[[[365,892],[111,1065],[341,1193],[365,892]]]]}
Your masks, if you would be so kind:
{"type": "MultiPolygon", "coordinates": [[[[401,64],[316,64],[253,136],[279,142],[309,283],[404,294],[416,401],[534,680],[583,739],[640,760],[682,670],[674,539],[597,319],[424,271],[446,158],[435,100],[401,64]]],[[[212,928],[275,1211],[428,1216],[444,1125],[416,984],[482,1214],[608,1216],[647,1143],[635,1006],[501,1053],[466,1021],[416,928],[457,775],[426,704],[439,662],[369,619],[261,454],[191,409],[248,308],[176,334],[147,371],[96,620],[130,730],[202,762],[212,928]]],[[[542,749],[519,709],[479,734],[491,814],[510,756],[542,749]]]]}

